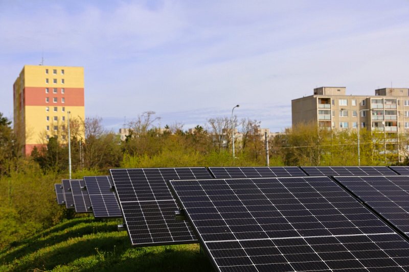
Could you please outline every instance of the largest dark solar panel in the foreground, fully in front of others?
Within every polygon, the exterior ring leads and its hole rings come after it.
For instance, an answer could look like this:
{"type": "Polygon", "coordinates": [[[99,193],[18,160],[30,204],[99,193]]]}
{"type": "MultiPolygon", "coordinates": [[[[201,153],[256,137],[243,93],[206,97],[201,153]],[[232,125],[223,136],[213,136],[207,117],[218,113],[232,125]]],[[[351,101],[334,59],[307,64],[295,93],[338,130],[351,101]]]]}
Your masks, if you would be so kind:
{"type": "MultiPolygon", "coordinates": [[[[172,180],[168,183],[177,202],[183,207],[193,230],[197,237],[199,237],[200,243],[211,257],[212,263],[218,271],[256,271],[256,268],[259,271],[330,271],[346,267],[353,268],[355,271],[359,270],[359,267],[369,267],[371,270],[375,270],[377,266],[381,266],[383,270],[390,267],[396,268],[396,270],[401,269],[401,271],[409,269],[409,243],[328,177],[214,179],[203,181],[172,180]],[[341,231],[331,233],[331,235],[305,232],[304,234],[299,233],[298,236],[289,237],[294,235],[294,232],[288,232],[289,230],[284,227],[285,221],[276,219],[274,224],[270,224],[272,221],[269,221],[269,219],[272,216],[263,216],[272,213],[275,213],[275,216],[278,215],[277,218],[290,219],[291,221],[288,221],[290,225],[298,224],[299,230],[307,230],[308,224],[313,223],[312,221],[305,221],[306,218],[300,218],[303,215],[294,213],[290,206],[286,209],[282,208],[285,205],[293,204],[281,203],[280,199],[266,196],[274,194],[269,189],[277,191],[282,189],[280,186],[276,186],[278,185],[277,183],[263,183],[266,180],[279,180],[281,184],[286,183],[287,186],[285,188],[291,194],[310,193],[308,190],[307,192],[299,190],[297,186],[289,182],[290,179],[309,179],[308,184],[311,188],[319,189],[316,191],[327,195],[323,197],[324,199],[330,199],[329,203],[331,205],[334,205],[339,211],[344,211],[340,215],[348,215],[348,217],[346,216],[347,220],[335,221],[340,216],[339,214],[326,214],[325,211],[327,209],[319,209],[318,207],[313,209],[314,205],[317,205],[313,202],[301,202],[303,205],[309,205],[310,209],[305,208],[305,210],[313,210],[314,212],[311,213],[315,216],[315,219],[319,219],[318,221],[321,224],[329,224],[328,227],[336,230],[343,229],[340,228],[343,227],[343,222],[351,221],[357,224],[351,223],[352,226],[355,226],[352,229],[363,231],[360,234],[343,234],[341,231]],[[326,180],[317,182],[316,179],[326,180]],[[269,201],[275,201],[276,204],[272,206],[280,206],[281,208],[278,209],[280,213],[286,210],[287,215],[280,216],[277,211],[270,210],[271,205],[267,205],[264,201],[257,199],[253,190],[248,191],[248,194],[243,194],[243,196],[248,196],[248,198],[237,197],[238,200],[235,199],[234,196],[238,196],[240,190],[245,188],[245,182],[242,182],[244,180],[257,180],[256,184],[259,184],[259,190],[263,191],[262,194],[259,193],[258,195],[264,195],[269,201]],[[287,182],[284,182],[285,180],[287,182]],[[225,182],[223,184],[220,181],[229,181],[229,183],[225,182]],[[196,188],[191,187],[191,190],[198,190],[184,191],[183,188],[188,186],[196,186],[196,188]],[[225,186],[230,188],[226,189],[225,186]],[[334,188],[337,190],[332,191],[334,188]],[[203,195],[202,192],[205,191],[213,192],[203,195]],[[193,196],[189,192],[193,192],[193,196]],[[234,193],[230,195],[229,192],[234,193]],[[334,196],[330,196],[333,193],[335,193],[334,196]],[[336,200],[339,200],[340,197],[347,197],[348,201],[345,203],[337,202],[336,200]],[[247,203],[255,202],[261,210],[255,210],[256,207],[252,205],[246,206],[243,204],[243,201],[247,203]],[[234,206],[234,203],[240,202],[242,202],[241,206],[234,206]],[[222,209],[218,210],[215,203],[221,203],[223,206],[220,205],[219,207],[222,209]],[[246,210],[241,210],[239,207],[245,207],[246,210]],[[213,208],[216,208],[216,211],[212,210],[213,208]],[[351,211],[349,214],[346,213],[346,211],[355,208],[359,210],[351,211]],[[229,215],[229,211],[233,212],[229,215]],[[362,216],[359,212],[363,211],[365,211],[363,214],[366,214],[367,217],[358,219],[362,216]],[[246,216],[246,212],[251,215],[246,216]],[[290,216],[289,214],[291,213],[292,215],[290,216]],[[225,217],[225,215],[228,216],[225,217]],[[332,220],[330,220],[330,216],[334,216],[332,220]],[[222,222],[224,220],[228,222],[223,225],[222,222]],[[252,224],[253,221],[257,220],[262,220],[259,221],[259,225],[252,224]],[[371,220],[374,221],[372,222],[371,220]],[[369,222],[372,222],[372,225],[379,228],[365,227],[369,222]],[[261,229],[257,229],[262,225],[261,229]],[[276,225],[277,229],[281,229],[284,235],[280,237],[268,233],[267,227],[272,225],[276,225]],[[337,225],[340,226],[337,227],[337,225]],[[237,227],[241,228],[240,233],[232,231],[232,228],[237,227]],[[206,233],[208,230],[210,233],[206,233]],[[285,232],[288,232],[289,235],[286,235],[285,232]],[[235,236],[238,233],[240,236],[235,236]],[[233,236],[230,236],[230,234],[233,236]],[[252,237],[254,234],[255,236],[252,237]],[[331,251],[328,251],[328,249],[331,249],[331,251]]],[[[305,197],[305,200],[312,200],[313,198],[305,197]]],[[[319,204],[322,203],[319,202],[319,204]]],[[[362,270],[367,271],[368,269],[362,270]]]]}

